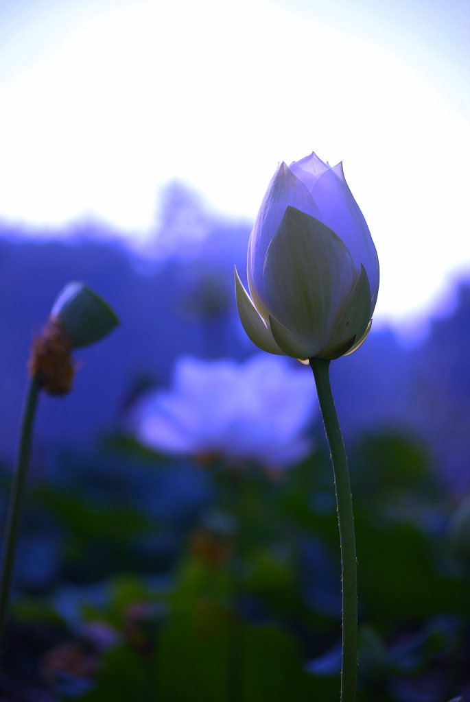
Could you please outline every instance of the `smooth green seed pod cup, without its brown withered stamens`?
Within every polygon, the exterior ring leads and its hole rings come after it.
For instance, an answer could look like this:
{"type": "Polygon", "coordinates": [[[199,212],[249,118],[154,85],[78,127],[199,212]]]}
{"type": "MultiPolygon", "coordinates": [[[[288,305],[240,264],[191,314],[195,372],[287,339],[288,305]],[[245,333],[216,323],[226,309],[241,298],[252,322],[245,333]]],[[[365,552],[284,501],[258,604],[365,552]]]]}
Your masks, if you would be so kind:
{"type": "Polygon", "coordinates": [[[80,282],[70,282],[58,294],[50,315],[63,326],[72,348],[88,346],[119,324],[116,314],[96,293],[80,282]]]}

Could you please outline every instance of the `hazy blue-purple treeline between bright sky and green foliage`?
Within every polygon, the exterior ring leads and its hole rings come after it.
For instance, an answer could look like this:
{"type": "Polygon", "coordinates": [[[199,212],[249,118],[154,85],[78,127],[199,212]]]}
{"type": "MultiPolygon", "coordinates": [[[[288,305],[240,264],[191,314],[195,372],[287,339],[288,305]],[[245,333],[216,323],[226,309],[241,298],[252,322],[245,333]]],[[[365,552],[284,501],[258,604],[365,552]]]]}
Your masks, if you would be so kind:
{"type": "MultiPolygon", "coordinates": [[[[198,205],[179,185],[169,188],[165,202],[162,221],[171,238],[171,227],[184,221],[185,211],[194,218],[198,205]]],[[[91,442],[99,432],[124,427],[126,405],[141,383],[170,385],[181,355],[241,360],[256,352],[233,294],[233,265],[244,274],[249,227],[204,211],[199,217],[207,239],[188,247],[183,261],[152,261],[102,243],[112,231],[93,225],[77,227],[73,241],[43,244],[4,226],[0,451],[6,460],[15,451],[30,341],[70,279],[87,282],[109,300],[121,325],[96,347],[77,352],[72,395],[41,398],[37,451],[91,442]]],[[[465,281],[455,286],[455,310],[433,320],[419,345],[403,347],[391,329],[372,326],[357,353],[332,364],[332,383],[346,443],[379,429],[422,438],[436,471],[460,491],[470,488],[470,292],[465,281]]]]}

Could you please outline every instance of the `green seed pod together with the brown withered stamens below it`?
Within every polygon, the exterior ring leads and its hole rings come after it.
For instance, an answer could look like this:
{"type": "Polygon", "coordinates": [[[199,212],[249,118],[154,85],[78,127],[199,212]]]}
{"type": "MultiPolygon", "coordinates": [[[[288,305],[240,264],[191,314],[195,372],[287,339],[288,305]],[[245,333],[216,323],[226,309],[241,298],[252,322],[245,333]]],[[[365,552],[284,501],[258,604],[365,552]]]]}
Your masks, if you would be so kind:
{"type": "Polygon", "coordinates": [[[28,366],[49,395],[66,395],[72,389],[72,349],[106,336],[119,324],[115,313],[83,283],[71,282],[53,303],[48,322],[33,339],[28,366]]]}

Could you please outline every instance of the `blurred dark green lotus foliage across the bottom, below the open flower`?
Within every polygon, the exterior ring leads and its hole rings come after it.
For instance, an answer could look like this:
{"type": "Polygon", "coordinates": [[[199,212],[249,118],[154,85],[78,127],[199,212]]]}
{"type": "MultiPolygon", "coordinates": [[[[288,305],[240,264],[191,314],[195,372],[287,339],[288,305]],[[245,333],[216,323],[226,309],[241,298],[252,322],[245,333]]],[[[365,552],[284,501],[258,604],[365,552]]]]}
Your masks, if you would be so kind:
{"type": "MultiPolygon", "coordinates": [[[[96,672],[75,699],[337,702],[340,550],[326,451],[282,475],[168,463],[119,436],[92,460],[63,460],[64,479],[32,490],[25,514],[26,536],[60,534],[58,579],[39,597],[17,599],[14,616],[91,647],[96,672]],[[152,477],[171,483],[191,469],[210,487],[197,510],[163,518],[143,509],[137,486],[158,491],[152,477]],[[56,609],[64,588],[74,588],[74,616],[56,609]],[[105,646],[86,638],[97,623],[113,633],[105,646]]],[[[397,680],[426,681],[436,661],[443,680],[462,668],[450,658],[461,655],[459,616],[468,609],[459,605],[462,570],[447,554],[450,501],[409,437],[362,437],[350,461],[358,699],[401,702],[397,680]]]]}

